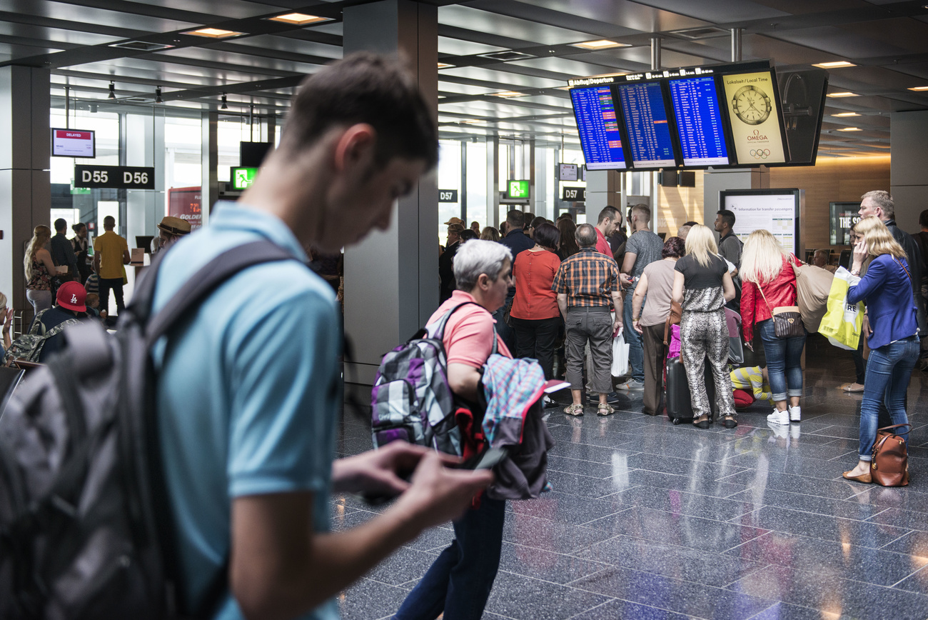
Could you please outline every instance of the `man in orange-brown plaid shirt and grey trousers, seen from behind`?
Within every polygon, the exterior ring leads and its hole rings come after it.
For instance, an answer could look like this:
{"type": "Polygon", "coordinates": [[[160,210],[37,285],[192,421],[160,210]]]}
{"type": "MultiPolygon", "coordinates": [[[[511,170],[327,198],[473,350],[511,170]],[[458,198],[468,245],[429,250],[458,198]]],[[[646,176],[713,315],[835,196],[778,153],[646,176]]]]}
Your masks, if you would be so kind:
{"type": "Polygon", "coordinates": [[[564,409],[570,416],[583,415],[584,347],[592,354],[590,375],[599,393],[597,414],[608,416],[612,407],[606,395],[612,391],[612,334],[622,329],[622,291],[619,265],[612,256],[596,251],[596,228],[577,226],[575,239],[580,252],[561,263],[551,290],[558,293],[558,307],[567,329],[567,381],[571,383],[573,403],[564,409]],[[615,321],[610,315],[615,306],[615,321]]]}

